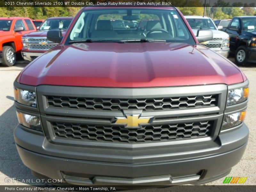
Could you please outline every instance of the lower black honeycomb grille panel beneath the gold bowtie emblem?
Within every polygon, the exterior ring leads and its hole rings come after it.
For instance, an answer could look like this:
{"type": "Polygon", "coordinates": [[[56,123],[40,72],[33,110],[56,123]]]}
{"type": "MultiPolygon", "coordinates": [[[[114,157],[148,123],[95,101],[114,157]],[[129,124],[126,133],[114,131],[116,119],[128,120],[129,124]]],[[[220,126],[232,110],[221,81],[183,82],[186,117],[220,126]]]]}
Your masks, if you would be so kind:
{"type": "Polygon", "coordinates": [[[141,128],[51,122],[56,137],[110,142],[153,142],[210,136],[214,121],[147,125],[141,128]]]}

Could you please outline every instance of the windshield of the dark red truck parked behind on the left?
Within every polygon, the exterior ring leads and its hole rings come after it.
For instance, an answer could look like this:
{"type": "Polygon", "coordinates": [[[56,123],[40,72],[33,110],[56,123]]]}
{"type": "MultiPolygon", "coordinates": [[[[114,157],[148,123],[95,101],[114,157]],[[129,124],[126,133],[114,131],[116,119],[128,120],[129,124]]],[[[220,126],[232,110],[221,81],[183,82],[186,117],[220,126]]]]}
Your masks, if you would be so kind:
{"type": "Polygon", "coordinates": [[[70,19],[49,19],[44,21],[39,30],[67,29],[70,23],[70,19]]]}

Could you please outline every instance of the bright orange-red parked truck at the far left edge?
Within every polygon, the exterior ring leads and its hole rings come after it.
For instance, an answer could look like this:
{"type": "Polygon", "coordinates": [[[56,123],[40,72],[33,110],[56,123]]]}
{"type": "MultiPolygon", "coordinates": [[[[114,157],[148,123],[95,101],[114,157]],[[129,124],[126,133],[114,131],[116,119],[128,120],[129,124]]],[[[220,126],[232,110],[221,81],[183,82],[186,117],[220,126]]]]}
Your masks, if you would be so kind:
{"type": "Polygon", "coordinates": [[[13,66],[16,53],[22,49],[21,36],[36,31],[29,18],[2,17],[0,18],[0,63],[13,66]]]}

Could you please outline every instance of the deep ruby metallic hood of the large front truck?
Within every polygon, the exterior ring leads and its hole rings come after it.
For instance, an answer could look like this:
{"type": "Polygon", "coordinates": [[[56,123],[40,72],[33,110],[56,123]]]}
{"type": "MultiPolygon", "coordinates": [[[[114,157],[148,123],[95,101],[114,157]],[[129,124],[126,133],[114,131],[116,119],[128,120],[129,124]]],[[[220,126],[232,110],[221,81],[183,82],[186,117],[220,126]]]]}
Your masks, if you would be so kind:
{"type": "Polygon", "coordinates": [[[160,87],[243,82],[239,68],[201,45],[77,43],[58,45],[17,78],[28,85],[160,87]]]}

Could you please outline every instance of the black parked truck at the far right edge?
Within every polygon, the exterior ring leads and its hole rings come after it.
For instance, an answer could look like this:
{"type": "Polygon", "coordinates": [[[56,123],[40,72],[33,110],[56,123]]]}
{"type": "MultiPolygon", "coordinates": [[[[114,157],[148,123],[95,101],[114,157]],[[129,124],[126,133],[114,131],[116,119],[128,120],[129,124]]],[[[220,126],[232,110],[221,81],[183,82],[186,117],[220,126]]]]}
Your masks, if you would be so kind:
{"type": "Polygon", "coordinates": [[[234,17],[225,30],[237,65],[256,63],[256,16],[234,17]]]}

